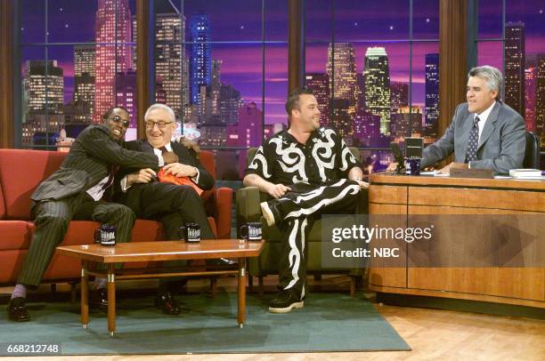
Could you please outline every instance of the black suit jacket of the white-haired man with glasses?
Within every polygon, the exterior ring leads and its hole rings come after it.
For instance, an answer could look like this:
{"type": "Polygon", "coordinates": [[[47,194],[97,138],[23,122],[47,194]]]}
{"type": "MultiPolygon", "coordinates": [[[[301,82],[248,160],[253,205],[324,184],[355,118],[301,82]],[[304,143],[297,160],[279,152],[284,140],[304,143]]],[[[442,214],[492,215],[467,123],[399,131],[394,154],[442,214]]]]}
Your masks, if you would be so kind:
{"type": "MultiPolygon", "coordinates": [[[[172,150],[175,152],[176,156],[179,158],[179,162],[182,164],[188,164],[195,166],[199,169],[199,188],[200,189],[213,189],[214,188],[214,177],[210,174],[206,168],[200,164],[199,159],[197,159],[197,154],[194,150],[183,147],[183,145],[175,142],[170,143],[172,150]]],[[[127,141],[124,145],[124,148],[140,151],[147,154],[154,154],[153,147],[151,147],[148,140],[132,140],[127,141]]],[[[142,167],[123,167],[119,170],[116,180],[115,180],[115,194],[114,200],[123,205],[129,206],[135,213],[139,213],[140,203],[141,203],[141,193],[144,187],[148,184],[134,184],[130,189],[127,189],[126,193],[123,193],[120,187],[120,181],[126,174],[131,172],[136,172],[142,169],[142,167]]],[[[155,181],[155,180],[152,180],[155,181]]]]}

